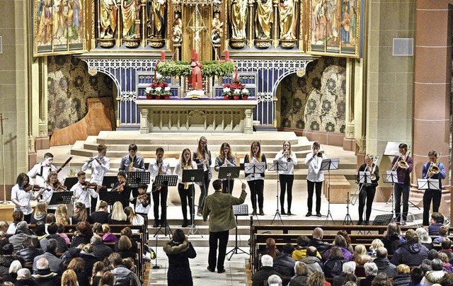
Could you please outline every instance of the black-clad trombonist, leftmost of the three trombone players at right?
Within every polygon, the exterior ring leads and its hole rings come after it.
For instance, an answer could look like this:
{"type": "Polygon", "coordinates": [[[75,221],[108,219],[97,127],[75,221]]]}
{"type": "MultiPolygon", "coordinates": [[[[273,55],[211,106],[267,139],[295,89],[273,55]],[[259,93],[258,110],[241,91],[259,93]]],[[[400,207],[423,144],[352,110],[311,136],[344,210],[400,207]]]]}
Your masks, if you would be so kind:
{"type": "MultiPolygon", "coordinates": [[[[359,193],[359,221],[357,225],[363,223],[363,208],[365,207],[365,202],[367,204],[367,212],[365,214],[365,225],[369,225],[369,216],[371,215],[374,195],[376,194],[376,187],[379,184],[379,167],[373,164],[374,156],[372,154],[367,154],[365,156],[365,164],[362,164],[359,168],[359,172],[369,172],[374,174],[375,178],[371,183],[362,183],[360,184],[360,193],[359,193]]],[[[366,181],[366,180],[365,180],[366,181]]]]}

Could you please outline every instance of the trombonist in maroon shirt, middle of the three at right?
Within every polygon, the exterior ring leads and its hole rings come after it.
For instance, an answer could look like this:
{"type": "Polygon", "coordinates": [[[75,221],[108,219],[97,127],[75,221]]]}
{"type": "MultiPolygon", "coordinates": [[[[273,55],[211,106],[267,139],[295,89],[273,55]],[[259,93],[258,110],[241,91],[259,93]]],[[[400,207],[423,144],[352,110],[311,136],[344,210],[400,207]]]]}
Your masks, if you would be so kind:
{"type": "Polygon", "coordinates": [[[401,224],[405,225],[409,210],[409,191],[411,190],[411,172],[413,170],[413,159],[407,154],[407,144],[399,144],[398,149],[400,154],[399,156],[396,156],[392,161],[393,167],[391,168],[391,171],[396,171],[396,175],[398,177],[398,182],[394,183],[395,215],[396,222],[401,222],[401,224]],[[399,163],[400,161],[406,161],[406,164],[401,164],[399,163]],[[403,168],[400,167],[400,164],[401,166],[403,166],[403,168]],[[402,216],[401,195],[403,195],[402,216]]]}

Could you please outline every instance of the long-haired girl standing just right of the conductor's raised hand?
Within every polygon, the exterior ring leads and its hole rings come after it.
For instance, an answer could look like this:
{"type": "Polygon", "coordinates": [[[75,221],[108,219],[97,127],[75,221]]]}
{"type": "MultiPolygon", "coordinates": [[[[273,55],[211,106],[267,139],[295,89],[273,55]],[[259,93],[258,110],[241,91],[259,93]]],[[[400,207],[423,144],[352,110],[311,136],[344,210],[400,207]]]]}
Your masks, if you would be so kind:
{"type": "MultiPolygon", "coordinates": [[[[250,153],[246,154],[243,159],[243,163],[258,163],[263,162],[265,166],[266,164],[266,156],[261,154],[261,145],[258,141],[253,141],[250,146],[250,153]]],[[[266,168],[266,167],[265,167],[266,168]]],[[[258,196],[258,207],[259,207],[259,214],[264,215],[263,211],[263,204],[264,204],[264,173],[247,173],[246,180],[248,183],[248,188],[250,188],[251,192],[251,202],[253,207],[252,215],[256,215],[256,197],[258,196]]]]}

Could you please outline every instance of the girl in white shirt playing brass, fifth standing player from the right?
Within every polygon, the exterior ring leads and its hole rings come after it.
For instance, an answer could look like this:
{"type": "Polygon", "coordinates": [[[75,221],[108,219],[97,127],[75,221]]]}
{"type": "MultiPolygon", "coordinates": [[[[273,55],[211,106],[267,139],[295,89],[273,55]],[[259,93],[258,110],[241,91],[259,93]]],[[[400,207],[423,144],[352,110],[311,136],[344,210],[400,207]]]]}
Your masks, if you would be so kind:
{"type": "Polygon", "coordinates": [[[280,206],[282,207],[282,214],[292,215],[292,183],[294,182],[294,166],[297,165],[297,157],[296,154],[291,151],[291,143],[289,143],[289,141],[283,142],[283,149],[275,155],[275,160],[287,163],[285,171],[278,171],[278,178],[280,181],[280,206]],[[288,190],[288,212],[285,212],[286,190],[288,190]]]}

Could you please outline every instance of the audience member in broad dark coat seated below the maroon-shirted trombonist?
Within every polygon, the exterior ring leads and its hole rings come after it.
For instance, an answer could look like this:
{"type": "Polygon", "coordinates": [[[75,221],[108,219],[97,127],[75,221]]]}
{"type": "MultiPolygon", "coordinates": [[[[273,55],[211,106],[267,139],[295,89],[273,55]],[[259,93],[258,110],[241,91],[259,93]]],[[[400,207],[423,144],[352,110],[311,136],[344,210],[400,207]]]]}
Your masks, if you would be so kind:
{"type": "Polygon", "coordinates": [[[417,233],[409,229],[406,231],[406,243],[396,249],[390,262],[394,265],[418,266],[428,257],[428,252],[428,248],[418,242],[417,233]]]}

